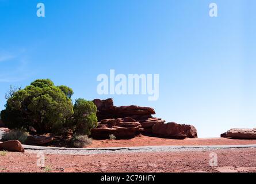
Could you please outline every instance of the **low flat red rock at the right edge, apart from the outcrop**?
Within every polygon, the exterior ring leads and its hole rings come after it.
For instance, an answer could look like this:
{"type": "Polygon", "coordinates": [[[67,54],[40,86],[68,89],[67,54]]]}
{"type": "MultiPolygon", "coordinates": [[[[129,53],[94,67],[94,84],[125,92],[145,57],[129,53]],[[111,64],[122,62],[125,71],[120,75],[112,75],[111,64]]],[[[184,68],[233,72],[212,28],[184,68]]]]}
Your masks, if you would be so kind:
{"type": "Polygon", "coordinates": [[[256,139],[256,129],[230,129],[226,133],[226,137],[231,137],[234,139],[256,139]]]}

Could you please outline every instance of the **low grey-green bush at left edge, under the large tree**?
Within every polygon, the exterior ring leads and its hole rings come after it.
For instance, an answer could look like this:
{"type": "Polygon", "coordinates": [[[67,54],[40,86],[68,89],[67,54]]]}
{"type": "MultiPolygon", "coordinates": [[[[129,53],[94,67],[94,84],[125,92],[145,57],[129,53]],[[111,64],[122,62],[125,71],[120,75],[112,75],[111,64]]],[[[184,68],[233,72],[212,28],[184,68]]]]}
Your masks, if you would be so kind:
{"type": "Polygon", "coordinates": [[[28,132],[24,129],[13,129],[2,137],[2,141],[18,140],[21,143],[25,143],[26,139],[28,139],[28,132]]]}

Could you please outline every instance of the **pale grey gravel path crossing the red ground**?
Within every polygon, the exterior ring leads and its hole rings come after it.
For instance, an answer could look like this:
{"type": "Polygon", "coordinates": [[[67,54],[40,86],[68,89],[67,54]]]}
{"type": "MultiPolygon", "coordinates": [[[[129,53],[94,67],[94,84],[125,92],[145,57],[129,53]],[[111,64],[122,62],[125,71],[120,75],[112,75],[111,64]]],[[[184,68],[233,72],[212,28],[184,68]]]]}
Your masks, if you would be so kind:
{"type": "Polygon", "coordinates": [[[209,151],[228,148],[256,148],[256,145],[217,145],[217,146],[146,146],[146,147],[116,147],[116,148],[51,148],[24,145],[29,154],[54,155],[93,155],[93,154],[129,154],[137,152],[184,152],[209,151]]]}

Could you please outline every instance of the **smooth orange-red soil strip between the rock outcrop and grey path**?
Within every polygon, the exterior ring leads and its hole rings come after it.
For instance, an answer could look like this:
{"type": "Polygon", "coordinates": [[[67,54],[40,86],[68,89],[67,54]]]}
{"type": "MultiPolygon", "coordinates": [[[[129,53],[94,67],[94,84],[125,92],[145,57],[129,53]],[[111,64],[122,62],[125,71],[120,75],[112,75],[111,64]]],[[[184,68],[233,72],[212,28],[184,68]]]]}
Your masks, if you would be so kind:
{"type": "Polygon", "coordinates": [[[89,148],[100,147],[136,147],[144,145],[239,145],[256,144],[256,140],[238,140],[228,138],[199,138],[199,139],[163,139],[139,135],[128,140],[93,140],[89,148]]]}

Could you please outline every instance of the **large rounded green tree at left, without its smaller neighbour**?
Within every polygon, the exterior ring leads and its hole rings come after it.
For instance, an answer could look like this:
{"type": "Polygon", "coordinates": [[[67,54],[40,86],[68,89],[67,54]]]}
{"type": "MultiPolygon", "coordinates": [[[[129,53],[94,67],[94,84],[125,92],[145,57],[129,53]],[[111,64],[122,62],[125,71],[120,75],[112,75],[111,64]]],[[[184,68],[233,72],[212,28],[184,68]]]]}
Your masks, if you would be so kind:
{"type": "Polygon", "coordinates": [[[7,99],[1,119],[9,128],[32,126],[38,133],[58,132],[72,117],[72,90],[39,79],[7,99]]]}

